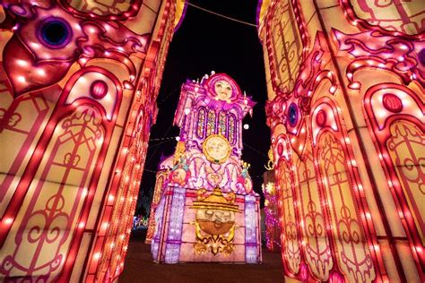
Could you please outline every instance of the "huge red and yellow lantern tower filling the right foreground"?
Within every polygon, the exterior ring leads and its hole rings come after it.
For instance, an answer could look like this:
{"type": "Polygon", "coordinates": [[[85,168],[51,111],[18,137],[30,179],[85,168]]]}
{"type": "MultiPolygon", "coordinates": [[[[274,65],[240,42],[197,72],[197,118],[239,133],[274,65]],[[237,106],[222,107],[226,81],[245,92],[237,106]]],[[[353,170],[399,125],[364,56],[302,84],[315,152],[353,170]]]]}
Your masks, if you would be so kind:
{"type": "Polygon", "coordinates": [[[425,281],[425,2],[257,11],[285,276],[425,281]]]}

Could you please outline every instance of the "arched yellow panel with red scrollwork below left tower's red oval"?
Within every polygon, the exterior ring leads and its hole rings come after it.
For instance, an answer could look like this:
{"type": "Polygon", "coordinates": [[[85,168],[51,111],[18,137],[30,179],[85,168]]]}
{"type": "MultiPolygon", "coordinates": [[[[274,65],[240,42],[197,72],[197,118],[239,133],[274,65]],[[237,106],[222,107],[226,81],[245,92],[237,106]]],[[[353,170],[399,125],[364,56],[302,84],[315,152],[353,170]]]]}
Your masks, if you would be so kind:
{"type": "Polygon", "coordinates": [[[24,200],[29,204],[22,205],[19,212],[22,223],[17,221],[13,227],[22,236],[15,238],[13,254],[0,256],[0,261],[10,256],[22,267],[13,267],[11,276],[54,263],[60,266],[51,271],[52,277],[62,270],[65,261],[61,259],[72,243],[104,133],[100,113],[87,106],[77,107],[56,124],[37,174],[30,181],[30,193],[24,200]]]}

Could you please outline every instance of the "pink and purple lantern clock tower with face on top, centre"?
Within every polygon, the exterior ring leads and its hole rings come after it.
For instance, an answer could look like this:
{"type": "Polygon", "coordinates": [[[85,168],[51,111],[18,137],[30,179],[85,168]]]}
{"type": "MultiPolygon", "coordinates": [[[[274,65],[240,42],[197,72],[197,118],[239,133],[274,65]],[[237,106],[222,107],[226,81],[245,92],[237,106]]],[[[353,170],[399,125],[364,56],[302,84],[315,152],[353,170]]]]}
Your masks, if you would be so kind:
{"type": "Polygon", "coordinates": [[[183,84],[173,167],[155,212],[155,262],[261,262],[259,196],[241,160],[254,102],[224,73],[183,84]]]}

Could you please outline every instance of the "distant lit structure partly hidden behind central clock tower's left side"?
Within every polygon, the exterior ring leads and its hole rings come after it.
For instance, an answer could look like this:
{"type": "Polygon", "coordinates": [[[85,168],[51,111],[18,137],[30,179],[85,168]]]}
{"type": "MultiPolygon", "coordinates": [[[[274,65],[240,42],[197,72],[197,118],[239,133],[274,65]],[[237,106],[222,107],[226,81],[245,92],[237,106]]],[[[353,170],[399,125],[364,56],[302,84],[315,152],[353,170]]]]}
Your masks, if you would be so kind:
{"type": "Polygon", "coordinates": [[[155,232],[155,210],[158,207],[158,203],[160,203],[160,195],[162,193],[162,188],[164,182],[169,176],[169,170],[172,167],[174,167],[172,156],[160,161],[160,165],[158,166],[155,188],[153,189],[152,195],[151,213],[149,214],[148,231],[146,232],[146,239],[144,241],[144,243],[146,244],[151,244],[152,242],[152,237],[155,232]]]}

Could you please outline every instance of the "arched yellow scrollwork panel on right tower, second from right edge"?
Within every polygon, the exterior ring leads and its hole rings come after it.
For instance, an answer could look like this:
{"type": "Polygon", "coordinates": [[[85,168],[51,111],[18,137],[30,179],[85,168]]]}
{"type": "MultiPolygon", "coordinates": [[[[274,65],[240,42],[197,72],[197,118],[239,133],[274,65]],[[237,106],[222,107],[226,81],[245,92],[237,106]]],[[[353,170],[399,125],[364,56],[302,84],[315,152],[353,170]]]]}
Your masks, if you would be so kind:
{"type": "Polygon", "coordinates": [[[343,147],[331,133],[321,136],[318,147],[338,265],[347,281],[370,282],[375,279],[375,270],[351,193],[343,147]]]}

